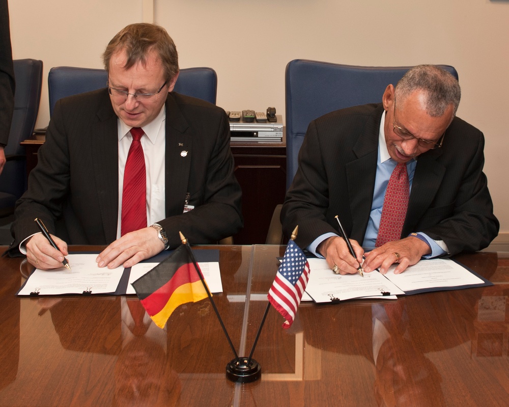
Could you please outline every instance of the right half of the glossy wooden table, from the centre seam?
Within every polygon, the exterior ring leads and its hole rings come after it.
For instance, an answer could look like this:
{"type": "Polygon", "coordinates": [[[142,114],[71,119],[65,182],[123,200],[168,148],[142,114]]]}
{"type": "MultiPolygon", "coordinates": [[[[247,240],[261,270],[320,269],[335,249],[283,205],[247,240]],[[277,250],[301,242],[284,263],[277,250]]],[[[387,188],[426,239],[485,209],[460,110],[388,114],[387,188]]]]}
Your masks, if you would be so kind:
{"type": "MultiPolygon", "coordinates": [[[[262,380],[243,385],[239,405],[509,405],[508,257],[457,256],[495,283],[487,288],[301,303],[288,331],[271,310],[253,356],[262,380]]],[[[276,267],[274,250],[256,247],[251,298],[265,295],[276,267]]],[[[249,326],[265,304],[251,301],[249,326]]]]}

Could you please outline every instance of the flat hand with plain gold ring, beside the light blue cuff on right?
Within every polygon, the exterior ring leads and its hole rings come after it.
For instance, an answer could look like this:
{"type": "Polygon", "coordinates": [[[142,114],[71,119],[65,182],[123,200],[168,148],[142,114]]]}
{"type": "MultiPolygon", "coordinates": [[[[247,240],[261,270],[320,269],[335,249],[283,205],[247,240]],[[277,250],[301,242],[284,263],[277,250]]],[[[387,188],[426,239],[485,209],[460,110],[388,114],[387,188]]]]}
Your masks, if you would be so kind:
{"type": "Polygon", "coordinates": [[[420,258],[431,253],[431,248],[426,242],[416,237],[405,237],[385,243],[365,254],[366,259],[362,264],[365,273],[378,268],[380,273],[385,274],[393,263],[399,263],[394,269],[394,274],[400,274],[408,266],[417,263],[420,258]]]}

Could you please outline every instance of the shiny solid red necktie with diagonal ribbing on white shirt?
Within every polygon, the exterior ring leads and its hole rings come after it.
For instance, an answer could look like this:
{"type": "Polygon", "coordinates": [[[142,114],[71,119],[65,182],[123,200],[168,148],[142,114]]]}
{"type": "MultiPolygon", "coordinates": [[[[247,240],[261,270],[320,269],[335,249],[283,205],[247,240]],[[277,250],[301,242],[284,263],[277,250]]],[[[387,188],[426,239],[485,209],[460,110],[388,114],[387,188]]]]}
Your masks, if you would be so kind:
{"type": "Polygon", "coordinates": [[[147,227],[147,178],[145,156],[140,142],[144,132],[139,127],[133,127],[131,134],[132,142],[127,154],[122,191],[122,236],[147,227]]]}

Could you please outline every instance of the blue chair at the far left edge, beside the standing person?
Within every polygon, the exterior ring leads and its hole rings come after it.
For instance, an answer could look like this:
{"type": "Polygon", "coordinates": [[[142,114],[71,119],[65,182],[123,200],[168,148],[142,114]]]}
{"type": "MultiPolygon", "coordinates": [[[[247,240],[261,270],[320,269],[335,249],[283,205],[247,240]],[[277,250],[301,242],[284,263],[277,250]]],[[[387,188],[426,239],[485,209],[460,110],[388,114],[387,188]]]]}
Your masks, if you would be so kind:
{"type": "Polygon", "coordinates": [[[5,149],[7,162],[0,175],[0,216],[14,212],[16,200],[26,190],[26,156],[19,143],[34,132],[42,88],[42,61],[14,60],[14,114],[9,142],[5,149]]]}

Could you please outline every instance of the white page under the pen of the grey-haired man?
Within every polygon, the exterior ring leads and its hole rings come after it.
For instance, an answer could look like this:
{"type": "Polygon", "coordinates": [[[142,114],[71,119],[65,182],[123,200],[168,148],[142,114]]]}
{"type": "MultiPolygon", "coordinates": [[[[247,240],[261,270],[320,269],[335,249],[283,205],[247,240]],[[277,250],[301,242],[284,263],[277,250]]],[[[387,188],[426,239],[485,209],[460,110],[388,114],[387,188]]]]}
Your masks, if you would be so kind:
{"type": "MultiPolygon", "coordinates": [[[[382,294],[400,295],[404,292],[382,276],[379,272],[359,273],[342,276],[334,274],[325,259],[308,259],[309,281],[306,292],[317,303],[332,300],[348,300],[360,297],[382,297],[382,294]]],[[[383,296],[387,298],[387,296],[383,296]]]]}

